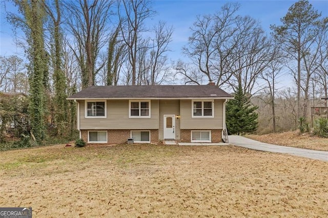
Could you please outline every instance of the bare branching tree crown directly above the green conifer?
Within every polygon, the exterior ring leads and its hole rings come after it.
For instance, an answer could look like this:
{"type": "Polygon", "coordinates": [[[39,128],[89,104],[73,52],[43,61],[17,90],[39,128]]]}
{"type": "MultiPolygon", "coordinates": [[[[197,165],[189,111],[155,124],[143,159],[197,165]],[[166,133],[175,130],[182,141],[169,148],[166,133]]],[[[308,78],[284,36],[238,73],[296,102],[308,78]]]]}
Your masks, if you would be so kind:
{"type": "Polygon", "coordinates": [[[245,93],[253,94],[257,78],[274,58],[272,40],[265,35],[258,21],[251,17],[238,17],[236,26],[238,30],[232,41],[237,46],[225,63],[232,73],[227,81],[234,91],[241,84],[245,93]]]}

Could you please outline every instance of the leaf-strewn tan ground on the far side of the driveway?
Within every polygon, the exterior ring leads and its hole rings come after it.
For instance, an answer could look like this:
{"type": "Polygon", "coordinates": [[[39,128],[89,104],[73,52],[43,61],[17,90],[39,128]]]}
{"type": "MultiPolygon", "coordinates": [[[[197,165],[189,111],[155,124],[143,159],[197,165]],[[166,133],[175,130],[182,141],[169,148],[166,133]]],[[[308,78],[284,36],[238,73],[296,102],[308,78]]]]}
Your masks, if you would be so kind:
{"type": "Polygon", "coordinates": [[[328,151],[328,138],[311,136],[308,133],[300,134],[298,130],[293,132],[271,133],[260,136],[247,135],[246,137],[270,144],[328,151]]]}

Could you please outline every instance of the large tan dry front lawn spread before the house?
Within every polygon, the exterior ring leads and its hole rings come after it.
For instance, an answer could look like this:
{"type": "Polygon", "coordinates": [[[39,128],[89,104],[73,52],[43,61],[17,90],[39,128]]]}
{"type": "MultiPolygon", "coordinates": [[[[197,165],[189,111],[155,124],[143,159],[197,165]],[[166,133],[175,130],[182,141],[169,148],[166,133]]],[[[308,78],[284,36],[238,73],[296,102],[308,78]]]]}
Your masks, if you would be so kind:
{"type": "Polygon", "coordinates": [[[327,217],[328,162],[233,146],[0,152],[0,206],[33,217],[327,217]]]}

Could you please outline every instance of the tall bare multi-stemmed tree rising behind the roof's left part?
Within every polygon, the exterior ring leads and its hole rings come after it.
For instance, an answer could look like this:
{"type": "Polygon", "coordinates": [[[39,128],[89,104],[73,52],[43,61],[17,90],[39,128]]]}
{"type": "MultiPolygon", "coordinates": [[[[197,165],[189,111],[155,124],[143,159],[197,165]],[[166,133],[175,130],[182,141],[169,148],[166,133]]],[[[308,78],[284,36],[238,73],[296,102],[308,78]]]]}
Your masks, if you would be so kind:
{"type": "Polygon", "coordinates": [[[75,40],[70,47],[79,63],[83,89],[94,85],[95,74],[104,67],[105,63],[96,69],[96,61],[99,51],[107,44],[111,6],[112,1],[107,0],[66,3],[67,25],[75,40]]]}

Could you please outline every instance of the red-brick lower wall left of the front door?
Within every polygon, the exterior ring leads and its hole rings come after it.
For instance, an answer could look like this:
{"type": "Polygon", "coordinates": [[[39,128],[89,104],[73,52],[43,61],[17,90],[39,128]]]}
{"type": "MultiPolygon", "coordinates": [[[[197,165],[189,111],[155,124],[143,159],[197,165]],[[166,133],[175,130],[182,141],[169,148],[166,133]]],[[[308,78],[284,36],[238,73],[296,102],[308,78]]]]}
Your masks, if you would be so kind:
{"type": "MultiPolygon", "coordinates": [[[[106,129],[99,129],[99,131],[106,131],[106,129]]],[[[128,138],[131,137],[131,130],[141,130],[142,129],[109,129],[107,130],[107,144],[120,144],[126,143],[128,138]]],[[[158,142],[158,129],[149,129],[150,130],[150,140],[151,143],[158,142]]],[[[88,130],[81,129],[81,138],[88,142],[88,130]]]]}

